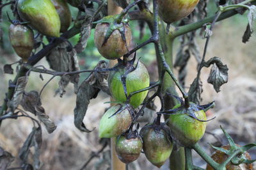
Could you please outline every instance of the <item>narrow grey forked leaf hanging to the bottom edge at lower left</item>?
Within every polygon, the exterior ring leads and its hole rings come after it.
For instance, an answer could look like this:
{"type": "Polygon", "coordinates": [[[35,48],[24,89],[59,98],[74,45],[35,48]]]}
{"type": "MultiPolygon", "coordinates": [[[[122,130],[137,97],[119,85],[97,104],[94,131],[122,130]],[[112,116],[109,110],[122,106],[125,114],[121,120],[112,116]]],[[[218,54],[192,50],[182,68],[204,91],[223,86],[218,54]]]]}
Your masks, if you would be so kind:
{"type": "Polygon", "coordinates": [[[22,160],[24,166],[28,165],[28,155],[30,148],[34,146],[35,153],[33,154],[33,168],[39,169],[40,167],[40,148],[42,145],[42,130],[40,127],[33,128],[32,132],[28,135],[25,143],[19,152],[19,157],[22,160]]]}

